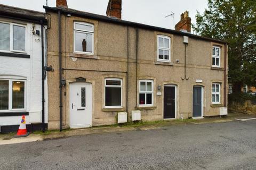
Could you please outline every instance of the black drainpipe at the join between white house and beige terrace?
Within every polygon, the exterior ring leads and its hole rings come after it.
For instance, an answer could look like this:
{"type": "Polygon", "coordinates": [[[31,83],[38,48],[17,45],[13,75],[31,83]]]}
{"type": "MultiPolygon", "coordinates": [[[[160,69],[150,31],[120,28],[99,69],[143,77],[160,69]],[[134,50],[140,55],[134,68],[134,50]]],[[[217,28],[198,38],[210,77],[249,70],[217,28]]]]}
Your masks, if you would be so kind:
{"type": "Polygon", "coordinates": [[[45,124],[44,124],[44,25],[43,21],[41,20],[41,43],[42,43],[42,130],[45,132],[45,124]]]}

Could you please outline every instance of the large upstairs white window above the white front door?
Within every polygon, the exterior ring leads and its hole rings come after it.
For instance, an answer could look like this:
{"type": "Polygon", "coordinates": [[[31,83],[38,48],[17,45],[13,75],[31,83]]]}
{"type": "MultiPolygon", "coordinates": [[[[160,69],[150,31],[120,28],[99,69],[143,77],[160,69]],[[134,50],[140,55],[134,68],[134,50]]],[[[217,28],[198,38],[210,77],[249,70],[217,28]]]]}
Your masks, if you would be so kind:
{"type": "Polygon", "coordinates": [[[93,24],[74,23],[74,52],[93,54],[93,24]]]}

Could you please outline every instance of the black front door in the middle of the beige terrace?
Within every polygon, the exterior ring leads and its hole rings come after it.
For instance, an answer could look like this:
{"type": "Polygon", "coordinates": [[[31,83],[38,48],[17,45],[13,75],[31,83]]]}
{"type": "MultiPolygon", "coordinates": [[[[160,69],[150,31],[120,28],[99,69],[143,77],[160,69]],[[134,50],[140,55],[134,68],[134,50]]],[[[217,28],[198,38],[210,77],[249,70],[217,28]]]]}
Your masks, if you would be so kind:
{"type": "Polygon", "coordinates": [[[175,118],[175,87],[164,87],[164,118],[175,118]]]}

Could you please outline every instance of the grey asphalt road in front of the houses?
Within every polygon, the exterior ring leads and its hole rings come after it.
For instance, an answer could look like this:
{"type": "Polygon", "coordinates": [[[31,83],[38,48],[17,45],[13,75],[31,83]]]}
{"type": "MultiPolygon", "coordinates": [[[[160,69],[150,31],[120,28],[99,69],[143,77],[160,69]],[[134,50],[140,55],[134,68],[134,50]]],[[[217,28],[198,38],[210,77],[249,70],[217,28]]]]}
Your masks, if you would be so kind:
{"type": "Polygon", "coordinates": [[[2,145],[0,169],[255,169],[256,120],[241,121],[247,118],[2,145]]]}

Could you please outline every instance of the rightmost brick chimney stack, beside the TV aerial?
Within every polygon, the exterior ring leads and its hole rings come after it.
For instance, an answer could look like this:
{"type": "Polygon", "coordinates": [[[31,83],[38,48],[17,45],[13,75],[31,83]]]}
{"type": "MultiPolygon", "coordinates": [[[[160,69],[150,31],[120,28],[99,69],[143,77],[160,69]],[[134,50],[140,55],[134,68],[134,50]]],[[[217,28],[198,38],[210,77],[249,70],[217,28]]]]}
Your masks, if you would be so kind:
{"type": "Polygon", "coordinates": [[[188,16],[188,11],[180,15],[180,21],[175,25],[175,30],[191,32],[191,18],[188,16]]]}

